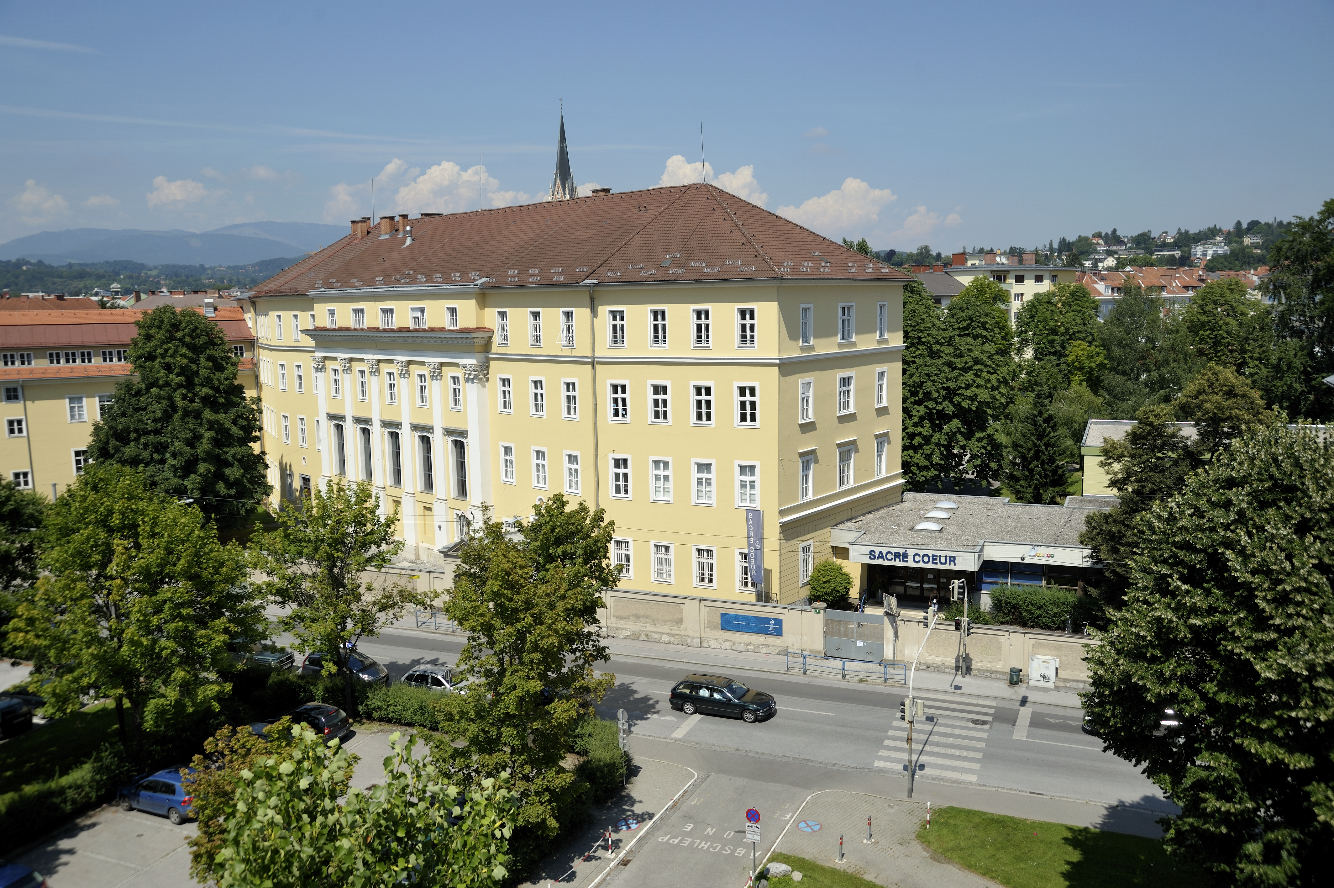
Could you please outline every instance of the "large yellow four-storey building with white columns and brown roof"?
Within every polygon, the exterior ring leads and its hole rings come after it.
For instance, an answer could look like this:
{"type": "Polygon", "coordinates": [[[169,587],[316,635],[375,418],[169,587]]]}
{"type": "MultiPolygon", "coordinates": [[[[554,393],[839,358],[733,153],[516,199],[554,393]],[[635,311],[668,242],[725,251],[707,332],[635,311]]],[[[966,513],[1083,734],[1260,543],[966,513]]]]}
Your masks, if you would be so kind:
{"type": "Polygon", "coordinates": [[[798,601],[899,499],[907,279],[704,184],[355,220],[244,307],[271,479],[370,481],[422,560],[564,493],[623,588],[798,601]]]}

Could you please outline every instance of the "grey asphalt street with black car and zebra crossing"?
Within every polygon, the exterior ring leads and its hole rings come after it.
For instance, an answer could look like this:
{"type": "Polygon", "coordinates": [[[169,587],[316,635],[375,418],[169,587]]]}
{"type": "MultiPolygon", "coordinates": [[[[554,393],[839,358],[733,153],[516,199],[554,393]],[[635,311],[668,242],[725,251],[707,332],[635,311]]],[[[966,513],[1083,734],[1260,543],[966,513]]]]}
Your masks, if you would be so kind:
{"type": "MultiPolygon", "coordinates": [[[[387,629],[363,640],[362,650],[398,678],[419,662],[452,665],[463,648],[458,636],[387,629]]],[[[607,669],[616,686],[599,710],[630,713],[631,730],[644,740],[743,752],[791,761],[866,770],[878,792],[902,795],[907,783],[907,725],[902,688],[838,682],[803,676],[730,670],[742,684],[778,697],[778,714],[760,724],[716,716],[687,717],[667,705],[671,685],[698,664],[614,656],[607,669]]],[[[919,692],[926,718],[912,730],[919,781],[947,781],[1066,797],[1161,812],[1175,811],[1133,765],[1081,729],[1083,713],[978,693],[919,692]]]]}

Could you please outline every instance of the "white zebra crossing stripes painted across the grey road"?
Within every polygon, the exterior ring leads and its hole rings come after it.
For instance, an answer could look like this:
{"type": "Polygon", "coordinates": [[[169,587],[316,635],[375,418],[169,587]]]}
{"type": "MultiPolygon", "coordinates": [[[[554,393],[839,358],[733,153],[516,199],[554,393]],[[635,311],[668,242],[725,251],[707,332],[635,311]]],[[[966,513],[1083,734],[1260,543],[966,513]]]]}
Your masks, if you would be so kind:
{"type": "MultiPolygon", "coordinates": [[[[926,716],[912,725],[912,764],[916,773],[976,783],[995,705],[938,693],[916,693],[914,697],[926,704],[926,716]]],[[[899,714],[890,725],[888,738],[883,741],[884,749],[876,752],[875,766],[906,773],[907,737],[908,725],[900,701],[899,714]]]]}

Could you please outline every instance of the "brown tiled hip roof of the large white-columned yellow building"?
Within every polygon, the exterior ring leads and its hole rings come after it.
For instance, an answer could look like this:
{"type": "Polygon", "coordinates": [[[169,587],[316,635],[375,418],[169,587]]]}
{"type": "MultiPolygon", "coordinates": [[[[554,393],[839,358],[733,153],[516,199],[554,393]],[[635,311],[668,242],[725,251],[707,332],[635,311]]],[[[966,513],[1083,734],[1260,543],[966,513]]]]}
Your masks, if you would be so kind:
{"type": "Polygon", "coordinates": [[[347,235],[255,295],[470,283],[492,287],[671,280],[907,280],[716,186],[695,184],[412,219],[399,236],[347,235]]]}

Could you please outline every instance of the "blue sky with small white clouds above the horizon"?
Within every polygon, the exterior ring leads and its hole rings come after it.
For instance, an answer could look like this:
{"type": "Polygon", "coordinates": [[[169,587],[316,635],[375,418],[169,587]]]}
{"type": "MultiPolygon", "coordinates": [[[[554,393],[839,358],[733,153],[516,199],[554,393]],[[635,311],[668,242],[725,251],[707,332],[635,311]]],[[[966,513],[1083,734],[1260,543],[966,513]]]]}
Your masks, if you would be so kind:
{"type": "Polygon", "coordinates": [[[1334,7],[0,3],[0,240],[699,178],[876,248],[1310,215],[1334,7]]]}

